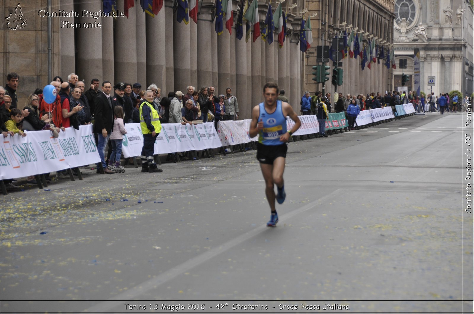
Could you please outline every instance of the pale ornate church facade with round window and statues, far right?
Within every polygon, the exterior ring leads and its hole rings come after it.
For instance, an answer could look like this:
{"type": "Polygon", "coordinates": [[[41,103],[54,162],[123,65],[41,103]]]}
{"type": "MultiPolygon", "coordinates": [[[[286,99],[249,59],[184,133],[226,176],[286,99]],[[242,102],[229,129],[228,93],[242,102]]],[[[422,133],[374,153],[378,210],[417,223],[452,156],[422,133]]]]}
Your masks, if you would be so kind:
{"type": "Polygon", "coordinates": [[[435,94],[459,90],[473,93],[473,9],[469,0],[395,0],[394,45],[397,70],[393,88],[401,87],[402,73],[411,76],[413,51],[420,51],[420,90],[435,94]],[[407,60],[407,69],[398,67],[407,60]],[[428,76],[435,86],[428,86],[428,76]]]}

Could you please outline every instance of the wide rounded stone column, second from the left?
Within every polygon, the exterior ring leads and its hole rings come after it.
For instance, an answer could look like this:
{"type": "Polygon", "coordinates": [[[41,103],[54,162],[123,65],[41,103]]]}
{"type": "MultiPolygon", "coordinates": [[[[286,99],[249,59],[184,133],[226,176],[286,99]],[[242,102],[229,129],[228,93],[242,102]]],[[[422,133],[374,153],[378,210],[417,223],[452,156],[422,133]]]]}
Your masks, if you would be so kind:
{"type": "MultiPolygon", "coordinates": [[[[83,2],[79,3],[79,9],[94,12],[99,11],[102,9],[102,2],[89,2],[84,0],[83,2]]],[[[90,23],[91,18],[79,17],[77,22],[90,23]]],[[[94,22],[102,23],[102,18],[99,17],[98,19],[94,20],[94,22]]],[[[79,29],[77,32],[77,45],[78,64],[76,67],[76,74],[80,78],[98,78],[100,82],[102,82],[102,30],[100,28],[79,29]]],[[[65,79],[67,80],[67,78],[65,79]]]]}

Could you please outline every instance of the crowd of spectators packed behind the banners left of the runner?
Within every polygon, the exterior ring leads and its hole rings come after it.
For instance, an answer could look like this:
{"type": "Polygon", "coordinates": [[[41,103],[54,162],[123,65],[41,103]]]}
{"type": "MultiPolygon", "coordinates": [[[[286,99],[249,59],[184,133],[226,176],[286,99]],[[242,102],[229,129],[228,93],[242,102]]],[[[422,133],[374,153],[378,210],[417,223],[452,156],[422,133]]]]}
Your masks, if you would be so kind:
{"type": "MultiPolygon", "coordinates": [[[[150,84],[144,89],[138,82],[119,82],[112,86],[107,80],[100,82],[99,79],[92,78],[86,90],[84,80],[79,80],[78,75],[71,73],[67,76],[67,81],[56,76],[50,83],[56,91],[53,102],[46,102],[43,90],[36,88],[28,95],[23,109],[20,109],[22,104],[18,104],[17,96],[21,86],[19,83],[19,75],[11,72],[7,75],[5,87],[0,87],[0,128],[3,137],[27,136],[25,131],[42,130],[50,130],[57,137],[65,128],[79,129],[80,125],[93,124],[101,158],[101,162],[97,164],[98,174],[125,171],[120,165],[125,123],[145,123],[151,129],[156,129],[152,126],[156,125],[153,123],[155,120],[159,120],[160,124],[214,122],[217,129],[219,121],[237,120],[239,117],[237,97],[232,95],[230,87],[226,88],[225,94],[217,94],[214,87],[203,86],[197,90],[188,86],[185,93],[170,91],[167,96],[162,96],[162,91],[156,84],[150,84]],[[142,106],[143,104],[146,106],[142,106]],[[151,114],[155,112],[157,118],[153,119],[151,114]],[[104,156],[106,146],[109,147],[107,159],[104,156]]],[[[152,132],[154,131],[150,130],[150,134],[152,132]]],[[[142,151],[143,154],[146,152],[142,151]]],[[[142,156],[142,171],[145,166],[146,172],[162,171],[148,161],[146,156],[142,156]]],[[[58,171],[56,177],[69,176],[65,171],[58,171]]],[[[46,174],[46,180],[51,180],[49,174],[46,174]]],[[[18,189],[15,182],[4,180],[8,190],[18,189]]],[[[33,184],[36,181],[33,177],[28,177],[27,183],[33,184]]]]}

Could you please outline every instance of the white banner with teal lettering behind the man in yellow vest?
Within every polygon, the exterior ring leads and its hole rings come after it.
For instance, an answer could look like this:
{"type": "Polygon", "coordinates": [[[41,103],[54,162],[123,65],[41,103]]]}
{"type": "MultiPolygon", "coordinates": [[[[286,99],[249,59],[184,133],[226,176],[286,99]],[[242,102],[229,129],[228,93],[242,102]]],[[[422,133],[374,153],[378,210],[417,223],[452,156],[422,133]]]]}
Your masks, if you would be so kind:
{"type": "MultiPolygon", "coordinates": [[[[164,123],[156,137],[155,154],[176,153],[178,151],[202,150],[221,146],[213,122],[197,125],[164,123]]],[[[123,136],[123,156],[140,156],[143,148],[143,134],[140,123],[126,123],[127,134],[123,136]]]]}

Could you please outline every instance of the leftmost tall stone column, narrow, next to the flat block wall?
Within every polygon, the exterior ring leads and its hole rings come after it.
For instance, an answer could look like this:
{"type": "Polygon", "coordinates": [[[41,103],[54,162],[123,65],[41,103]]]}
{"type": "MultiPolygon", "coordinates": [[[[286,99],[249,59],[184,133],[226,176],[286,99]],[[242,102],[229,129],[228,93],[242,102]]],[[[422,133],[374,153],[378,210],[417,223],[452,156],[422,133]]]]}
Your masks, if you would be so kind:
{"type": "MultiPolygon", "coordinates": [[[[71,12],[74,10],[73,0],[63,0],[61,1],[60,7],[61,10],[66,12],[71,12]]],[[[46,17],[44,17],[46,19],[46,17]]],[[[69,21],[74,23],[74,17],[62,17],[62,21],[69,21]]],[[[75,73],[75,51],[74,51],[74,28],[62,28],[59,32],[60,35],[60,46],[61,46],[61,75],[69,75],[70,73],[75,73]]],[[[53,73],[53,77],[55,74],[53,73]]],[[[86,81],[91,78],[81,77],[80,79],[85,79],[86,81]]],[[[49,82],[48,82],[49,84],[49,82]]],[[[86,82],[87,86],[87,82],[86,82]]]]}

